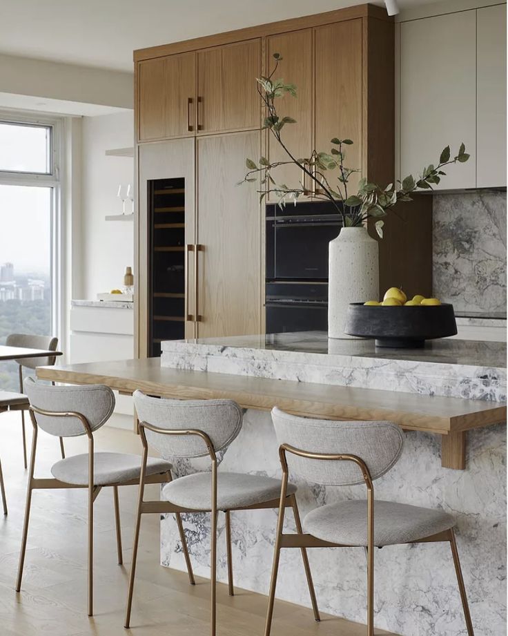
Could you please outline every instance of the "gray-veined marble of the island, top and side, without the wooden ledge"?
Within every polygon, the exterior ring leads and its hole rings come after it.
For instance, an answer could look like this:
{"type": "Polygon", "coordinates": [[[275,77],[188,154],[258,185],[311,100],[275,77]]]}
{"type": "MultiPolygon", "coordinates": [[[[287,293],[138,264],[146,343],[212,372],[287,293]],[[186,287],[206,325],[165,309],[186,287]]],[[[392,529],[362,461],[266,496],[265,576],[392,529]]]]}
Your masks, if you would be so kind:
{"type": "MultiPolygon", "coordinates": [[[[504,401],[505,351],[500,343],[448,340],[417,352],[375,351],[366,341],[337,341],[320,334],[284,338],[249,336],[163,343],[163,364],[180,369],[284,378],[332,385],[391,389],[504,401]],[[454,344],[452,344],[454,343],[454,344]],[[485,346],[487,345],[487,346],[485,346]],[[326,347],[326,351],[324,350],[326,347]]],[[[203,467],[201,467],[203,468],[203,467]]],[[[269,413],[248,409],[240,436],[220,471],[280,476],[269,413]]],[[[476,633],[506,633],[506,426],[468,432],[466,470],[440,464],[438,436],[407,432],[394,468],[374,483],[377,499],[440,508],[457,519],[457,541],[476,633]]],[[[302,517],[325,503],[364,498],[362,486],[335,488],[298,483],[302,517]]],[[[235,585],[266,594],[271,575],[277,512],[232,514],[235,585]]],[[[209,577],[210,520],[184,515],[198,575],[209,577]]],[[[291,513],[286,528],[294,531],[291,513]]],[[[219,515],[218,572],[227,580],[224,516],[219,515]]],[[[360,548],[309,550],[320,609],[364,623],[367,564],[360,548]]],[[[161,561],[184,570],[174,519],[162,519],[161,561]]],[[[277,597],[310,608],[300,552],[283,550],[277,597]]],[[[277,606],[275,606],[277,612],[277,606]]],[[[309,609],[309,628],[313,622],[309,609]]],[[[467,634],[449,546],[414,544],[375,551],[375,625],[402,636],[467,634]]]]}

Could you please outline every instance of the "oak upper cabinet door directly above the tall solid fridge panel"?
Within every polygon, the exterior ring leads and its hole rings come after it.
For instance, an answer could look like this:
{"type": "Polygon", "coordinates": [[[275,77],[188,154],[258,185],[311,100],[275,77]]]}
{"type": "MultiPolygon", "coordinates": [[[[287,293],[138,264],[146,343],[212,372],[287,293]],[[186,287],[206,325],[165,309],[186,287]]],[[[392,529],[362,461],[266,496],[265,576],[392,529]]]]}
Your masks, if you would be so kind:
{"type": "Polygon", "coordinates": [[[197,53],[198,133],[260,128],[261,41],[215,46],[197,53]]]}

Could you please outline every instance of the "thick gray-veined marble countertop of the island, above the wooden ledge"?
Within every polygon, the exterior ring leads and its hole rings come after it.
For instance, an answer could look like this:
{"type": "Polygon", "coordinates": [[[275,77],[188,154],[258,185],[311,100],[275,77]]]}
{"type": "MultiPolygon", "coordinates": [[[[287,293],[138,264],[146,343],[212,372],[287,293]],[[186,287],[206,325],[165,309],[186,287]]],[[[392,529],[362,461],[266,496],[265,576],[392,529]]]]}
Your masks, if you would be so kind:
{"type": "Polygon", "coordinates": [[[506,400],[506,343],[443,338],[422,349],[333,340],[326,332],[166,340],[162,365],[424,395],[506,400]]]}

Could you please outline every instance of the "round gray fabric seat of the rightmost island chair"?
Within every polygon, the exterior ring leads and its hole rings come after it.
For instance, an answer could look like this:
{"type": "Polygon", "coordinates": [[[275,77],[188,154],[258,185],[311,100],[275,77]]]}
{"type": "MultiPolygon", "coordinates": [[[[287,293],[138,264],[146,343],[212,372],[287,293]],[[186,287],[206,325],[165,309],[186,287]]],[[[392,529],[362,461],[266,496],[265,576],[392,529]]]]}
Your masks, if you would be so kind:
{"type": "MultiPolygon", "coordinates": [[[[390,546],[430,537],[455,526],[451,514],[393,501],[374,501],[374,545],[390,546]]],[[[304,531],[346,546],[367,546],[367,501],[329,503],[306,515],[304,531]]]]}

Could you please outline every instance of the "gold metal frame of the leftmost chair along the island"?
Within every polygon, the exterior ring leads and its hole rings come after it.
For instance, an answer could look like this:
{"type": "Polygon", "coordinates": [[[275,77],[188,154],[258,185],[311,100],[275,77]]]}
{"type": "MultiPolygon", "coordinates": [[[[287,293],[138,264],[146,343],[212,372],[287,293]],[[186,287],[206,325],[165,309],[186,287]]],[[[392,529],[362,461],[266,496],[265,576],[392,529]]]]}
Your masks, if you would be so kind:
{"type": "MultiPolygon", "coordinates": [[[[32,436],[32,453],[30,455],[30,471],[28,475],[28,488],[26,492],[26,505],[25,505],[25,517],[23,521],[23,535],[21,539],[21,552],[19,555],[19,568],[16,582],[16,591],[21,590],[21,579],[23,577],[23,565],[26,554],[26,541],[28,537],[28,523],[30,521],[30,505],[32,503],[32,491],[33,490],[55,490],[60,488],[88,488],[88,616],[93,615],[93,504],[99,492],[102,488],[113,488],[113,501],[115,505],[115,528],[117,534],[117,557],[119,565],[123,564],[122,549],[121,549],[121,526],[120,526],[120,509],[118,501],[118,488],[119,486],[138,485],[140,479],[130,479],[129,481],[122,481],[119,483],[108,483],[107,485],[96,486],[93,483],[94,476],[94,439],[90,423],[87,418],[81,413],[77,412],[53,412],[45,411],[37,407],[31,406],[28,409],[30,412],[30,419],[33,426],[32,436]],[[88,437],[88,485],[76,485],[72,483],[66,483],[59,481],[59,479],[36,479],[34,477],[35,470],[35,454],[37,450],[37,432],[38,425],[35,419],[35,413],[40,415],[46,415],[51,417],[74,417],[79,419],[84,427],[86,436],[88,437]]],[[[61,438],[60,438],[61,439],[61,438]]],[[[146,457],[144,458],[143,472],[140,473],[143,476],[143,483],[166,483],[171,481],[172,477],[170,472],[159,473],[145,477],[144,472],[146,470],[146,457]]],[[[185,541],[184,528],[182,526],[182,519],[179,514],[176,514],[177,524],[180,532],[180,538],[182,539],[182,549],[186,555],[186,561],[190,565],[187,552],[187,544],[185,541]]],[[[193,572],[189,569],[188,575],[190,581],[193,582],[193,572]]]]}

